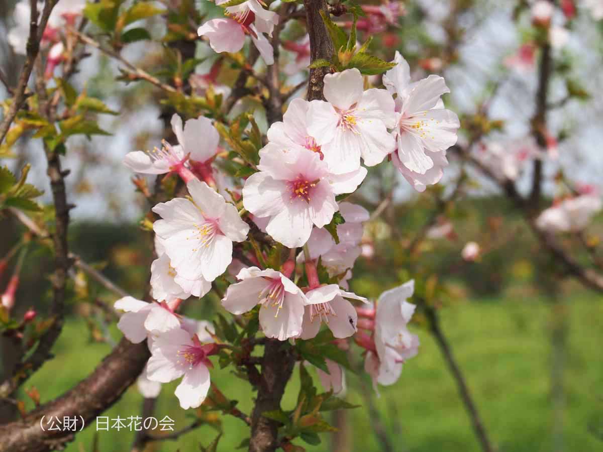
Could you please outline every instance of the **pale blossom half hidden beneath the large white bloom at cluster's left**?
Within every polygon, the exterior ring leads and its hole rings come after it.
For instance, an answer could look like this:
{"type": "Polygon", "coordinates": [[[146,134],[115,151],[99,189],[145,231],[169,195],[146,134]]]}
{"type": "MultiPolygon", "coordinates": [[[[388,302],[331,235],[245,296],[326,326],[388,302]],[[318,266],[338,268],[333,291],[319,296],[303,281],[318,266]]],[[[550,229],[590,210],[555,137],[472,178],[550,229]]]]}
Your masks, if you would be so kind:
{"type": "Polygon", "coordinates": [[[177,299],[186,300],[194,295],[203,297],[212,288],[212,283],[206,281],[203,277],[197,280],[187,280],[177,274],[171,265],[171,260],[165,254],[165,245],[163,240],[156,236],[155,246],[157,256],[151,263],[151,289],[153,298],[157,301],[175,301],[177,299]]]}

